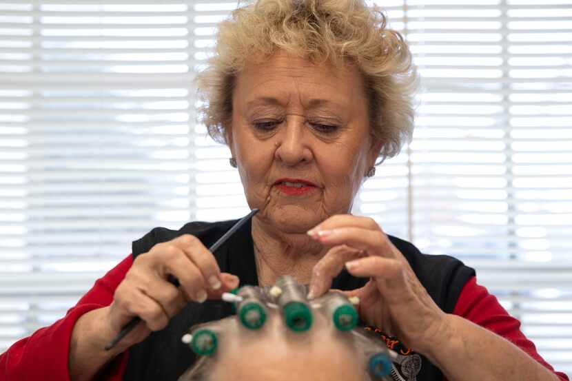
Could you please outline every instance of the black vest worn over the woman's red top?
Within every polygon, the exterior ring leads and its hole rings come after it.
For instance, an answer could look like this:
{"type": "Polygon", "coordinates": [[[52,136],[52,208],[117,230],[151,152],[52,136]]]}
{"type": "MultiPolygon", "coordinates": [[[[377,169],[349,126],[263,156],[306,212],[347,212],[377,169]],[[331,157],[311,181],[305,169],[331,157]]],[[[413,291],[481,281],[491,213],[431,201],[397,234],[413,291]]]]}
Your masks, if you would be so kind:
{"type": "MultiPolygon", "coordinates": [[[[205,247],[210,247],[236,220],[218,223],[188,223],[175,231],[156,227],[143,238],[133,242],[133,257],[149,251],[157,243],[172,240],[182,234],[192,234],[199,238],[205,247]]],[[[407,258],[421,284],[446,313],[451,313],[464,284],[474,276],[475,271],[450,256],[429,256],[421,254],[411,243],[389,236],[392,243],[407,258]]],[[[251,224],[246,223],[221,246],[214,256],[221,271],[234,274],[241,279],[241,285],[258,285],[251,224]]],[[[362,287],[365,278],[356,278],[342,271],[332,284],[332,288],[351,290],[362,287]]],[[[231,305],[226,302],[207,300],[203,304],[189,303],[183,311],[172,318],[165,329],[152,332],[139,344],[129,349],[125,381],[176,381],[189,368],[196,357],[181,342],[181,336],[192,325],[218,320],[232,315],[231,305]]],[[[387,338],[381,331],[371,329],[371,333],[387,340],[389,345],[397,345],[394,350],[402,355],[398,365],[403,380],[441,381],[443,375],[427,358],[400,347],[397,339],[387,338]]],[[[400,376],[398,375],[398,378],[400,376]]]]}

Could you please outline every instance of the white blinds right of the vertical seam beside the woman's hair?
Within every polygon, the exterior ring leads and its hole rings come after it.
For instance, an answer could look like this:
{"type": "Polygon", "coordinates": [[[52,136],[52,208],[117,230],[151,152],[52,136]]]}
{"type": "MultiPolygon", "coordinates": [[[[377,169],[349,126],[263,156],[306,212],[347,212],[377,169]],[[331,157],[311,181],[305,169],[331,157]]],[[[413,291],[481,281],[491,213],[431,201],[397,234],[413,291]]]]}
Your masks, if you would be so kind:
{"type": "Polygon", "coordinates": [[[413,241],[474,265],[570,373],[572,2],[407,3],[413,241]]]}

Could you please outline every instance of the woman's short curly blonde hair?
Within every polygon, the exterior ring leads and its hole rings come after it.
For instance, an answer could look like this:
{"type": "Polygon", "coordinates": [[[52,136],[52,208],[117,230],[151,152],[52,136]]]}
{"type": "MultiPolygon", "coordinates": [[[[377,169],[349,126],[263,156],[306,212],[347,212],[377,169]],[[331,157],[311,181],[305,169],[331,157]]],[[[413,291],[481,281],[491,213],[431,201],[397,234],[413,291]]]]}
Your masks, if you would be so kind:
{"type": "Polygon", "coordinates": [[[371,134],[383,143],[382,159],[395,156],[413,134],[417,74],[402,35],[387,28],[385,14],[362,0],[257,0],[218,27],[205,70],[196,76],[199,120],[227,143],[236,76],[252,59],[278,50],[334,65],[351,63],[365,83],[371,134]]]}

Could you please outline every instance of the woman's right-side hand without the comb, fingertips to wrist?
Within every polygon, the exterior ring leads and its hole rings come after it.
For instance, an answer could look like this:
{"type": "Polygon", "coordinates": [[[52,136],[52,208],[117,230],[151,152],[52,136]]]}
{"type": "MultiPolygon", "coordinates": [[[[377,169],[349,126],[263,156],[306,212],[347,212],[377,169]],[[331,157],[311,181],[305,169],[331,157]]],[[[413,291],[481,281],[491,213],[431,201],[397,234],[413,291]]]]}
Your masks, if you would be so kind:
{"type": "Polygon", "coordinates": [[[447,313],[433,302],[407,259],[373,219],[336,215],[308,234],[331,247],[314,267],[310,298],[329,290],[345,266],[349,274],[369,278],[364,287],[345,293],[360,299],[362,320],[420,353],[435,349],[446,332],[447,313]]]}

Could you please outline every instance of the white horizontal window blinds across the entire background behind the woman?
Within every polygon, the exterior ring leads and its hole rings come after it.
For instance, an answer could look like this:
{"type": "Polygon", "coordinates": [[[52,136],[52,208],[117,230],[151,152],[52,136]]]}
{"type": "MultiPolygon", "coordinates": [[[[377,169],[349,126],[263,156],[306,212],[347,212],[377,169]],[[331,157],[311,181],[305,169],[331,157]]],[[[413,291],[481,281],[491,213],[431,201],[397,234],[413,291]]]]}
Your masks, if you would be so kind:
{"type": "MultiPolygon", "coordinates": [[[[572,373],[572,1],[383,1],[422,75],[413,143],[354,212],[478,269],[572,373]]],[[[0,351],[154,226],[247,212],[191,80],[236,2],[0,0],[0,351]]]]}

